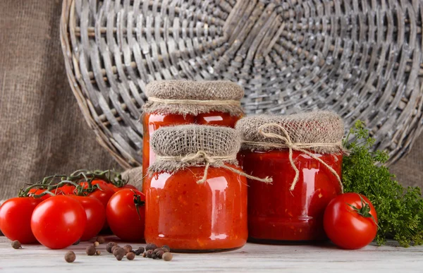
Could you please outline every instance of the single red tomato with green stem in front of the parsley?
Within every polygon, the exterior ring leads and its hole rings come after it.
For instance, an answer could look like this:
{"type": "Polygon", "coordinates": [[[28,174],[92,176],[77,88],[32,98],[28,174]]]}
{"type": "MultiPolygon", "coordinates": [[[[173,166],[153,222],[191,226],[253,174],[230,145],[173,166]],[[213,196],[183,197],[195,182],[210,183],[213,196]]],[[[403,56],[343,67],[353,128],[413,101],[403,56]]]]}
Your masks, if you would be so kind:
{"type": "Polygon", "coordinates": [[[333,243],[358,249],[373,241],[377,232],[376,210],[364,195],[344,193],[333,198],[324,212],[324,230],[333,243]]]}

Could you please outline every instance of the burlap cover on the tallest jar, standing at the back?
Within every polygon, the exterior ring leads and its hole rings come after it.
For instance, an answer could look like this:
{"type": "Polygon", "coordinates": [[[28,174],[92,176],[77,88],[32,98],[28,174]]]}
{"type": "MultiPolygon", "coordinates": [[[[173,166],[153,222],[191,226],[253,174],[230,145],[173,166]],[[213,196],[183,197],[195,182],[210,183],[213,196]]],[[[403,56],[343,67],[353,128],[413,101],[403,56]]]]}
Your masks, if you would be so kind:
{"type": "Polygon", "coordinates": [[[221,111],[243,114],[240,99],[244,90],[228,80],[159,80],[146,87],[146,113],[202,114],[221,111]]]}

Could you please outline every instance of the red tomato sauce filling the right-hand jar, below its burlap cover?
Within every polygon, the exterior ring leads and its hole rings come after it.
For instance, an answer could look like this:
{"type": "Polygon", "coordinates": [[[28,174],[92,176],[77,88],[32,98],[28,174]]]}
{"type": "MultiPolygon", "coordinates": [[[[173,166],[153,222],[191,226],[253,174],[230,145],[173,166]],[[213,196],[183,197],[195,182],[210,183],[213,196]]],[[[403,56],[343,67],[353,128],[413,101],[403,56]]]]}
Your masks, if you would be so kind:
{"type": "MultiPolygon", "coordinates": [[[[284,243],[326,239],[324,210],[329,201],[341,194],[341,186],[326,166],[307,154],[293,151],[300,177],[290,191],[295,170],[288,154],[288,150],[245,150],[238,156],[247,174],[273,178],[271,184],[247,180],[251,241],[284,243]]],[[[341,176],[342,154],[316,155],[341,176]]]]}

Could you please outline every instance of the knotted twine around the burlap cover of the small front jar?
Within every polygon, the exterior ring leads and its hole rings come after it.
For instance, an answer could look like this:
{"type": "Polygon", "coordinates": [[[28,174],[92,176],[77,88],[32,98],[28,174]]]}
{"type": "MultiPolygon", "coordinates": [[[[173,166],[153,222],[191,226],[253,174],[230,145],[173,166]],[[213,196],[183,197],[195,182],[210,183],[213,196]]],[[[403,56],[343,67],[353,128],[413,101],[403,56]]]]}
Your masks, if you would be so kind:
{"type": "Polygon", "coordinates": [[[202,184],[207,180],[207,173],[209,171],[210,164],[219,163],[219,162],[221,163],[219,165],[220,168],[228,169],[229,171],[232,171],[235,174],[239,174],[240,176],[245,176],[246,178],[250,178],[250,179],[257,180],[257,181],[264,182],[264,183],[271,183],[273,181],[272,178],[269,178],[269,176],[266,176],[266,178],[259,178],[259,177],[256,177],[256,176],[250,176],[249,174],[245,174],[245,172],[243,172],[243,171],[232,168],[231,166],[226,166],[223,163],[223,161],[225,161],[225,160],[236,159],[236,154],[231,154],[231,155],[228,155],[226,157],[216,157],[216,156],[210,156],[206,152],[200,150],[195,154],[187,154],[184,157],[181,157],[181,156],[178,156],[178,157],[157,156],[156,157],[156,160],[176,161],[176,162],[193,162],[193,161],[198,161],[199,159],[206,162],[206,165],[204,167],[204,174],[203,174],[202,178],[197,181],[197,184],[202,184]]]}

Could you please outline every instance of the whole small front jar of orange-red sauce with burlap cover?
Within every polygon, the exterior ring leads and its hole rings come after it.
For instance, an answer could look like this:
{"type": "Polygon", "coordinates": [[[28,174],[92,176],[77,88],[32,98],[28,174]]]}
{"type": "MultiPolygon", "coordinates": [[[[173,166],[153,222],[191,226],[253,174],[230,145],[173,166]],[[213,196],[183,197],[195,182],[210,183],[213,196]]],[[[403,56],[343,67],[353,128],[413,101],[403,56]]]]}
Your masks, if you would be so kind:
{"type": "Polygon", "coordinates": [[[213,252],[247,241],[247,181],[231,128],[173,126],[152,135],[145,178],[145,241],[176,252],[213,252]]]}

